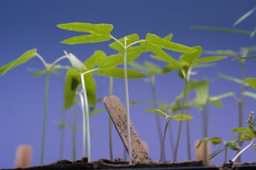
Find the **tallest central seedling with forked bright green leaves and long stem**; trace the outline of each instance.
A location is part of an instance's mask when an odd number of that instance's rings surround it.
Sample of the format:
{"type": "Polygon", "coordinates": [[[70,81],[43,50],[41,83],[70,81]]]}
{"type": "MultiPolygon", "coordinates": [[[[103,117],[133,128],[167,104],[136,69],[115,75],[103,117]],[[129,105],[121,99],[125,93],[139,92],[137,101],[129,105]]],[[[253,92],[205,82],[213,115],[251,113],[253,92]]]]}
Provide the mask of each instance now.
{"type": "MultiPolygon", "coordinates": [[[[92,24],[92,23],[64,23],[58,24],[58,27],[64,30],[71,30],[75,32],[82,32],[85,35],[75,36],[73,38],[68,38],[62,42],[65,44],[80,44],[80,43],[92,43],[92,42],[103,42],[108,40],[114,40],[110,44],[114,50],[117,50],[117,55],[112,55],[110,57],[105,57],[102,59],[97,59],[97,64],[100,68],[113,67],[123,64],[124,65],[124,86],[125,86],[125,96],[126,96],[126,110],[127,110],[127,120],[129,120],[129,89],[128,89],[128,69],[127,63],[135,60],[139,57],[142,52],[153,52],[154,55],[160,56],[162,60],[167,60],[169,62],[174,61],[174,59],[168,55],[162,48],[166,50],[173,50],[176,52],[195,52],[196,50],[187,47],[185,45],[180,45],[175,42],[170,42],[164,38],[160,38],[157,35],[148,33],[146,39],[142,40],[139,35],[132,34],[127,35],[124,38],[117,39],[111,35],[113,26],[110,24],[92,24]]],[[[109,69],[109,71],[110,71],[109,69]]],[[[117,68],[116,68],[117,69],[117,68]]],[[[105,70],[106,71],[106,70],[105,70]]],[[[102,72],[101,72],[102,73],[102,72]]],[[[106,72],[105,72],[106,73],[106,72]]],[[[111,72],[113,74],[113,72],[111,72]]],[[[120,76],[120,72],[118,72],[120,76]]],[[[110,72],[107,72],[108,76],[110,72]]],[[[132,149],[131,149],[131,137],[130,137],[130,127],[129,121],[127,121],[127,138],[129,143],[128,153],[129,153],[129,163],[132,163],[132,149]]]]}

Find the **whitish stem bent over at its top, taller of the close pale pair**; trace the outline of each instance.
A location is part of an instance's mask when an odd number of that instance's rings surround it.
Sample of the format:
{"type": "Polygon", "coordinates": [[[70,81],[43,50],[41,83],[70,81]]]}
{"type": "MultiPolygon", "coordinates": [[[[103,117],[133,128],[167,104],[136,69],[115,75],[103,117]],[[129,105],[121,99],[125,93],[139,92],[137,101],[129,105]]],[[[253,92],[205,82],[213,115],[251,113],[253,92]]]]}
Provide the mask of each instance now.
{"type": "Polygon", "coordinates": [[[85,87],[85,77],[84,74],[89,73],[89,71],[84,72],[81,75],[82,81],[82,94],[84,95],[84,106],[85,106],[85,119],[86,119],[86,134],[87,134],[87,157],[88,162],[91,162],[91,155],[90,155],[90,120],[89,120],[89,106],[88,106],[88,99],[87,99],[87,92],[85,87]]]}

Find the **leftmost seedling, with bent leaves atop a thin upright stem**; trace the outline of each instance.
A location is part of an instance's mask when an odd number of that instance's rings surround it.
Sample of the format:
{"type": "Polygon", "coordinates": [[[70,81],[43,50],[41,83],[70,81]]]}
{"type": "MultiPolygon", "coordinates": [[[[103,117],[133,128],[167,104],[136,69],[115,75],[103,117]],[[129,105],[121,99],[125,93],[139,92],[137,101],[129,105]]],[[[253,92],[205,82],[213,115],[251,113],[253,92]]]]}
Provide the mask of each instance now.
{"type": "Polygon", "coordinates": [[[38,54],[36,49],[28,50],[25,52],[21,57],[18,57],[18,59],[9,62],[8,64],[4,65],[0,68],[0,75],[6,74],[6,72],[9,72],[9,70],[14,69],[20,64],[24,64],[28,62],[28,60],[31,60],[33,57],[38,57],[39,60],[43,63],[43,66],[45,67],[44,71],[38,72],[36,74],[33,74],[34,77],[41,76],[42,74],[46,74],[46,90],[45,90],[45,99],[44,99],[44,106],[43,106],[43,132],[42,132],[42,145],[41,145],[41,165],[43,165],[43,157],[44,157],[44,145],[45,145],[45,135],[46,135],[46,114],[47,114],[47,108],[48,108],[48,87],[49,87],[49,77],[50,73],[55,73],[58,69],[66,69],[66,67],[62,67],[60,65],[57,65],[60,60],[63,60],[65,57],[60,57],[57,60],[55,60],[52,64],[48,64],[41,55],[38,54]]]}

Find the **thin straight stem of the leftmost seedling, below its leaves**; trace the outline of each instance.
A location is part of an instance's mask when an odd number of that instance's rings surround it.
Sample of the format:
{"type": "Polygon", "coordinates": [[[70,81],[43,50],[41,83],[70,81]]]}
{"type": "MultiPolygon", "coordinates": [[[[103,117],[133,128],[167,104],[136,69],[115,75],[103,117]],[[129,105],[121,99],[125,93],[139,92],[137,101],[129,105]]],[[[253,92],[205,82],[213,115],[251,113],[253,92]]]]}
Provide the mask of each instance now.
{"type": "Polygon", "coordinates": [[[43,106],[43,132],[42,132],[42,146],[41,146],[41,165],[43,165],[44,158],[44,147],[45,147],[45,138],[46,138],[46,115],[48,107],[48,89],[49,89],[49,77],[50,72],[46,72],[46,91],[45,91],[45,100],[43,106]]]}

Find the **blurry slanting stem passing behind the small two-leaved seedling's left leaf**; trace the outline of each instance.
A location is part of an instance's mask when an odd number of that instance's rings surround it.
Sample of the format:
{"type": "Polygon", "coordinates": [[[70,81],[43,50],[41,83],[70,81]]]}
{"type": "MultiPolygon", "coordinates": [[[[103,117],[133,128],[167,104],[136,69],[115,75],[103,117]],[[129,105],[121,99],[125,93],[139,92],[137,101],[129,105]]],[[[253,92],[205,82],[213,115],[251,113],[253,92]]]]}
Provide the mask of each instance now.
{"type": "MultiPolygon", "coordinates": [[[[150,75],[150,84],[151,84],[151,92],[152,92],[152,96],[153,96],[153,103],[154,103],[154,108],[157,108],[158,105],[157,105],[157,100],[156,100],[156,81],[155,81],[155,77],[154,75],[150,75]]],[[[162,132],[161,132],[161,123],[160,123],[160,115],[159,114],[156,114],[156,127],[157,127],[157,132],[159,134],[159,142],[160,142],[160,145],[162,146],[162,138],[163,138],[163,135],[162,135],[162,132]]],[[[162,154],[161,154],[162,155],[162,154]]],[[[163,152],[163,159],[165,159],[165,154],[163,152]]]]}

